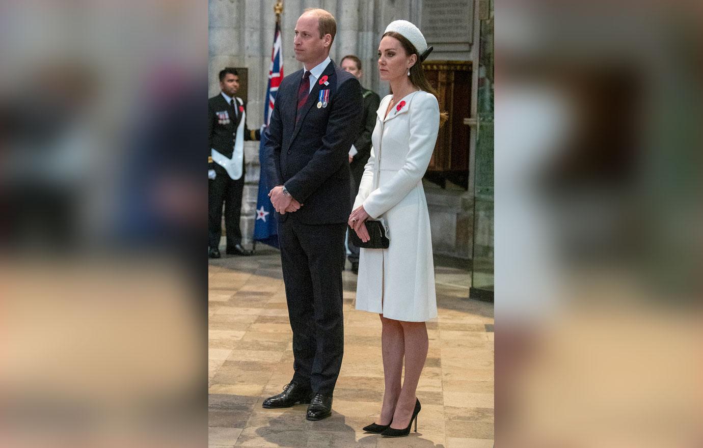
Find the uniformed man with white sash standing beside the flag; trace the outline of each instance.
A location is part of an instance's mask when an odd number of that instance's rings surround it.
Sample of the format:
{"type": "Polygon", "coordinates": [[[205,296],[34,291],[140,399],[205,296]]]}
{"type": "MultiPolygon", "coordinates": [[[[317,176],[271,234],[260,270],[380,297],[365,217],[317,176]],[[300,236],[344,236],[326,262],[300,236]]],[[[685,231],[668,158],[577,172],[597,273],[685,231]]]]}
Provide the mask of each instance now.
{"type": "Polygon", "coordinates": [[[251,255],[242,246],[239,218],[244,190],[244,140],[259,140],[260,131],[247,129],[246,105],[236,97],[239,75],[233,68],[219,72],[221,93],[207,101],[209,258],[220,258],[222,204],[227,230],[227,253],[251,255]]]}

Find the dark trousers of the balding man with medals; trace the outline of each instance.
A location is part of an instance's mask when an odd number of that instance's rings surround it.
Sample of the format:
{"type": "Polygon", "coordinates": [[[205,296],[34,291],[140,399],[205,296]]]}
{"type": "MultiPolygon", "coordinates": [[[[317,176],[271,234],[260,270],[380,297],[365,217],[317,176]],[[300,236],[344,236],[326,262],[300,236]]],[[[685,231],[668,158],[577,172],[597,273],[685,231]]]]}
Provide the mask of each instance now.
{"type": "MultiPolygon", "coordinates": [[[[294,212],[295,213],[295,212],[294,212]]],[[[293,331],[292,381],[332,395],[342,367],[342,266],[346,224],[278,220],[288,317],[293,331]]]]}

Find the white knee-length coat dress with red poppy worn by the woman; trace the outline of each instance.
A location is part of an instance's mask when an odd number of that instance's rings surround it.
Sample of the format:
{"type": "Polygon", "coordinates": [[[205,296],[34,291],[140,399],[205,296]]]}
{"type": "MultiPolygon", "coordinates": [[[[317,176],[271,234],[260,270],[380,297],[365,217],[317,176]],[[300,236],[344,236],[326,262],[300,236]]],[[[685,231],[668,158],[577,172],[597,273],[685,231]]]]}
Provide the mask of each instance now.
{"type": "Polygon", "coordinates": [[[384,118],[392,95],[381,101],[354,209],[382,218],[388,249],[361,249],[356,309],[406,322],[437,317],[430,216],[422,178],[439,131],[437,98],[416,91],[384,118]]]}

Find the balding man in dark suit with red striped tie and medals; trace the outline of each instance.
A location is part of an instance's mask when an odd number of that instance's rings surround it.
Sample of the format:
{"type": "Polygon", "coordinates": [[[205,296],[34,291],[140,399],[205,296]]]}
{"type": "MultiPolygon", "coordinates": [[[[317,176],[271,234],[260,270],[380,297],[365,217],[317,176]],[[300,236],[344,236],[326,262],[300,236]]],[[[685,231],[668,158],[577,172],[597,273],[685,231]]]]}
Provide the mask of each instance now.
{"type": "Polygon", "coordinates": [[[269,196],[278,214],[295,362],[283,393],[263,407],[310,403],[308,420],[330,416],[342,365],[342,270],[349,204],[349,147],[359,127],[361,85],[329,58],[337,25],[321,9],[295,25],[295,58],[303,70],[278,88],[266,137],[269,196]],[[274,186],[275,185],[275,186],[274,186]]]}

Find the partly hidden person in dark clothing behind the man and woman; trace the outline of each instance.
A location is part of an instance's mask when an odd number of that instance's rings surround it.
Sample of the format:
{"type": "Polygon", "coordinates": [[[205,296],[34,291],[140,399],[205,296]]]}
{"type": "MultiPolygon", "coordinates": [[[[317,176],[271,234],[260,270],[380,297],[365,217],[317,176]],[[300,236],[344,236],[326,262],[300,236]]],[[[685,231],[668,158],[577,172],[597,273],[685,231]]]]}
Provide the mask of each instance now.
{"type": "MultiPolygon", "coordinates": [[[[342,58],[340,67],[351,73],[356,79],[363,77],[361,70],[361,60],[356,55],[346,55],[342,58]]],[[[368,158],[371,156],[371,134],[376,126],[376,111],[381,103],[381,99],[374,91],[368,88],[361,88],[363,96],[363,113],[361,114],[361,124],[356,133],[356,140],[352,149],[349,150],[349,169],[352,170],[352,204],[356,199],[356,193],[359,192],[361,185],[361,176],[363,176],[363,167],[366,166],[368,158]]],[[[347,239],[349,247],[349,263],[352,263],[352,272],[359,273],[359,248],[354,246],[351,239],[347,239]]]]}

